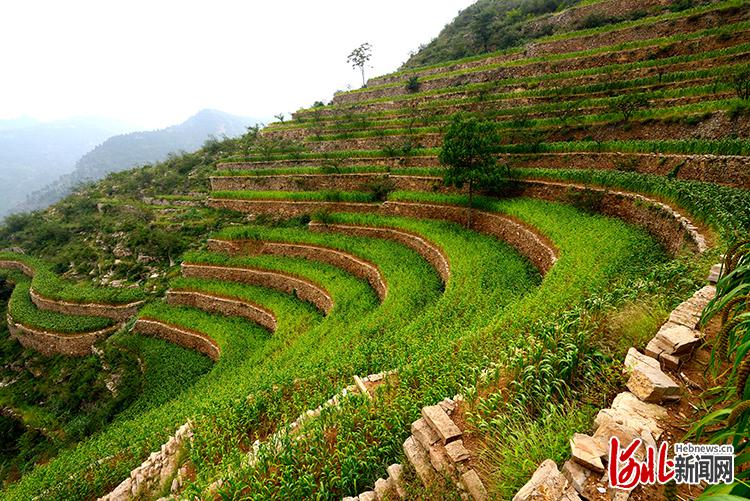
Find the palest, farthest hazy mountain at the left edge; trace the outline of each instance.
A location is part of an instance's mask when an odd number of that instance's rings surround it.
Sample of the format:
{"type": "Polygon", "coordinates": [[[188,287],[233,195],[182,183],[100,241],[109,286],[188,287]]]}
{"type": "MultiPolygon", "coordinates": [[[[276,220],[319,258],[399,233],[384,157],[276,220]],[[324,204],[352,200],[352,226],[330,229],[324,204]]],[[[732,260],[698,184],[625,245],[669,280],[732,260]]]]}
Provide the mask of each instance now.
{"type": "Polygon", "coordinates": [[[71,172],[91,148],[127,130],[125,124],[99,118],[0,120],[0,216],[50,179],[71,172]]]}

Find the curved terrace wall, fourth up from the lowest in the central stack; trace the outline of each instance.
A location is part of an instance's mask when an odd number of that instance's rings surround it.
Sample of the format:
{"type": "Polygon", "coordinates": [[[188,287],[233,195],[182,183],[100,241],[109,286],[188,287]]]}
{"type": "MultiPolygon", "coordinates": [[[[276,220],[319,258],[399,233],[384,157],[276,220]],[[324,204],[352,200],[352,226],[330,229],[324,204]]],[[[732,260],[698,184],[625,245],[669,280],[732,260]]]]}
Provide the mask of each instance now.
{"type": "Polygon", "coordinates": [[[294,244],[287,242],[268,242],[257,240],[217,240],[208,241],[208,249],[233,255],[270,254],[276,256],[301,257],[310,261],[319,261],[340,268],[355,277],[366,280],[383,302],[388,295],[388,285],[373,263],[360,259],[352,254],[330,247],[311,244],[294,244]]]}

